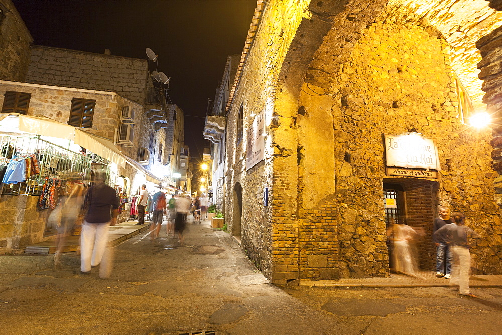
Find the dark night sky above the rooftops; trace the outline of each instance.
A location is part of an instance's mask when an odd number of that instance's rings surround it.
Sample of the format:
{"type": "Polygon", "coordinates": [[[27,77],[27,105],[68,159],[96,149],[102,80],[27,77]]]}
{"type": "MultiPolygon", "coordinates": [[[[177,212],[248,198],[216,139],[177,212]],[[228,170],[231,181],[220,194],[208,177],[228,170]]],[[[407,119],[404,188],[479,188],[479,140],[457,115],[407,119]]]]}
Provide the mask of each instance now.
{"type": "Polygon", "coordinates": [[[34,44],[147,59],[171,77],[185,113],[185,144],[200,159],[208,98],[226,57],[242,53],[256,0],[13,0],[34,44]],[[155,63],[154,63],[155,64],[155,63]],[[155,64],[156,65],[156,64],[155,64]]]}

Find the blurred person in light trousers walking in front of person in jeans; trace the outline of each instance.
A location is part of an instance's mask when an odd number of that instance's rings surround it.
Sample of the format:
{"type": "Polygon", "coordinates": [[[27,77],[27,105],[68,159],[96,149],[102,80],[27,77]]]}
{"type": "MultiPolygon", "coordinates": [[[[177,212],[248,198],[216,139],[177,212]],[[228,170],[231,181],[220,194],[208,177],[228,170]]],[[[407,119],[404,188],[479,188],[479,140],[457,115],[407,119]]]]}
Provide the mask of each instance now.
{"type": "Polygon", "coordinates": [[[444,225],[434,233],[434,239],[450,246],[453,252],[453,271],[451,284],[458,285],[458,293],[476,297],[470,293],[470,245],[467,236],[479,237],[479,235],[465,226],[465,215],[455,212],[451,215],[454,223],[444,225]]]}

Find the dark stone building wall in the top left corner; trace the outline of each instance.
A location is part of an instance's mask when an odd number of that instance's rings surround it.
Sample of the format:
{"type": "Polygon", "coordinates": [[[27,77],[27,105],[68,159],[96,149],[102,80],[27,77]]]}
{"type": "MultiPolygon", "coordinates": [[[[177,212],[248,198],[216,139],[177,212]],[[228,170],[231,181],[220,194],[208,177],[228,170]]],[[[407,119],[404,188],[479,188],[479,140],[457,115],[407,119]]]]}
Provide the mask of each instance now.
{"type": "Polygon", "coordinates": [[[11,0],[0,1],[5,17],[0,23],[0,80],[24,81],[33,38],[11,0]]]}

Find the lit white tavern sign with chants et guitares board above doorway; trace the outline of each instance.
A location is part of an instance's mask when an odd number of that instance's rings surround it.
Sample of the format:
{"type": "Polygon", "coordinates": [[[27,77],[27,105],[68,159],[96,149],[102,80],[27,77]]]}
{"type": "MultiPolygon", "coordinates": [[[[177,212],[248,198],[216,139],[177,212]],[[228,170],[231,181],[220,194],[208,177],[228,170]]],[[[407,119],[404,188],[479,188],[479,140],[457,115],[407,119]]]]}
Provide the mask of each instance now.
{"type": "Polygon", "coordinates": [[[417,133],[384,136],[387,175],[438,178],[441,165],[435,140],[417,133]]]}

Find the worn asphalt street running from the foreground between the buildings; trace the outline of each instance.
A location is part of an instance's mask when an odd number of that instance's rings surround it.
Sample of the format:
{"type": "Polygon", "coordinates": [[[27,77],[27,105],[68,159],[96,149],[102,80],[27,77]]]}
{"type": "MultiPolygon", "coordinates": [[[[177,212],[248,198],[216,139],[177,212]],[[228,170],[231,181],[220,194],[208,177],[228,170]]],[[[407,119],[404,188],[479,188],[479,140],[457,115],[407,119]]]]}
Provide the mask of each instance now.
{"type": "Polygon", "coordinates": [[[0,257],[2,333],[495,333],[502,290],[478,300],[452,288],[278,288],[209,221],[185,245],[142,232],[114,248],[110,279],[80,275],[77,253],[0,257]],[[461,321],[460,321],[461,320],[461,321]]]}

